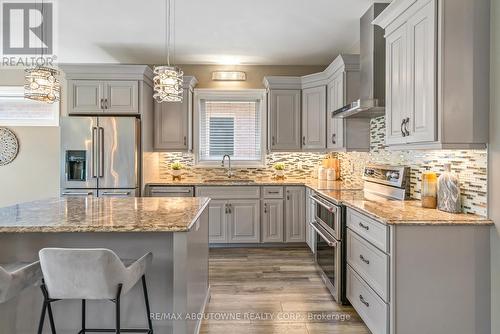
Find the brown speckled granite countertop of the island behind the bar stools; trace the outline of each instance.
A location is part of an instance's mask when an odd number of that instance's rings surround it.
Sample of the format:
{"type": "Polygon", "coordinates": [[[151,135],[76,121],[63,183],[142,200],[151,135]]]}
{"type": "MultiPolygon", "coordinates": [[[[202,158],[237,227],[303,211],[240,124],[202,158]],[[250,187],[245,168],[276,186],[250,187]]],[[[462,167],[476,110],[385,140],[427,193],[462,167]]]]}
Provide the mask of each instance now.
{"type": "Polygon", "coordinates": [[[0,233],[186,232],[206,197],[61,197],[0,208],[0,233]]]}

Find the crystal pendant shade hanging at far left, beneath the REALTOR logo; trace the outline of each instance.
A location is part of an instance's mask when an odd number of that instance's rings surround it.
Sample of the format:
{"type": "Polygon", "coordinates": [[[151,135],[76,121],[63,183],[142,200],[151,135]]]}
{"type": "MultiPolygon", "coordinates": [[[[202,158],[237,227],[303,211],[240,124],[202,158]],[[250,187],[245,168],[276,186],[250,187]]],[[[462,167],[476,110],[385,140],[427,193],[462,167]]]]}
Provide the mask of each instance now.
{"type": "Polygon", "coordinates": [[[24,97],[30,100],[54,103],[59,101],[61,86],[56,75],[59,72],[50,67],[37,66],[25,70],[24,97]]]}

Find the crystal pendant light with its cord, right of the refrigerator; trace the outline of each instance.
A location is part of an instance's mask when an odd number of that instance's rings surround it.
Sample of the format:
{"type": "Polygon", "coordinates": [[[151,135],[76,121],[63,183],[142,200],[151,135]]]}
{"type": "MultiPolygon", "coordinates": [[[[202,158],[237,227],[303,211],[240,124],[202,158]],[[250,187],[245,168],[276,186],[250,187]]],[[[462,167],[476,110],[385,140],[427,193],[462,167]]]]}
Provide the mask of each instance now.
{"type": "Polygon", "coordinates": [[[170,65],[170,39],[172,32],[171,0],[166,0],[166,54],[167,65],[155,66],[154,68],[154,94],[153,97],[161,102],[182,102],[183,90],[182,76],[184,73],[177,66],[170,65]]]}

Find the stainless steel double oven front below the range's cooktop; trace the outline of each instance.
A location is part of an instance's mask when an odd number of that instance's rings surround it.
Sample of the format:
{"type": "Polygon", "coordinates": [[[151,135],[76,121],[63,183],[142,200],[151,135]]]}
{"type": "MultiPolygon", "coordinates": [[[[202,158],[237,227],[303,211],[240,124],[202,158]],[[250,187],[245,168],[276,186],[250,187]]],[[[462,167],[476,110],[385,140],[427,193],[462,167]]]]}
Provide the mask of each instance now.
{"type": "Polygon", "coordinates": [[[311,227],[316,233],[316,264],[326,287],[340,304],[347,304],[345,296],[345,208],[314,193],[315,221],[311,227]]]}

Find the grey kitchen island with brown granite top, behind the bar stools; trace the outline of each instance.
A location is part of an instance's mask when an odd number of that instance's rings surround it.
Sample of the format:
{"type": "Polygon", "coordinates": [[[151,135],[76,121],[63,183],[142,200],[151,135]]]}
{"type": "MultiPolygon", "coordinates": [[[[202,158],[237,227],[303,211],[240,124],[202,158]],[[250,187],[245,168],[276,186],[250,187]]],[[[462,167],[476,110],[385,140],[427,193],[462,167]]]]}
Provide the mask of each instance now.
{"type": "MultiPolygon", "coordinates": [[[[202,197],[69,197],[1,208],[0,263],[36,261],[44,247],[109,248],[122,259],[152,252],[146,278],[155,333],[196,333],[201,320],[193,315],[210,296],[208,203],[202,197]],[[180,318],[173,320],[174,314],[180,318]]],[[[35,333],[42,300],[40,289],[31,287],[0,304],[0,333],[35,333]]],[[[57,333],[79,330],[80,307],[79,300],[53,305],[57,333]]],[[[144,328],[145,313],[137,285],[122,298],[122,326],[144,328]]],[[[112,303],[88,303],[89,327],[113,328],[113,319],[112,303]]]]}

